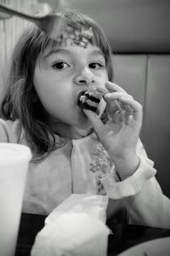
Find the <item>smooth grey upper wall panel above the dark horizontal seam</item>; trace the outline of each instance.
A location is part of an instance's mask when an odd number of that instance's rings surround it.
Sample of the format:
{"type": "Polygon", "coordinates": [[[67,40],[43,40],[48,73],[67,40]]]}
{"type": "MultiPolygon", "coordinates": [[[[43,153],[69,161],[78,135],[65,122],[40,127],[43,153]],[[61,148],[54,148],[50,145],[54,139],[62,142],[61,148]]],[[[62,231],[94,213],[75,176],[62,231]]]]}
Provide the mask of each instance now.
{"type": "Polygon", "coordinates": [[[64,0],[105,30],[114,53],[170,53],[169,0],[64,0]]]}

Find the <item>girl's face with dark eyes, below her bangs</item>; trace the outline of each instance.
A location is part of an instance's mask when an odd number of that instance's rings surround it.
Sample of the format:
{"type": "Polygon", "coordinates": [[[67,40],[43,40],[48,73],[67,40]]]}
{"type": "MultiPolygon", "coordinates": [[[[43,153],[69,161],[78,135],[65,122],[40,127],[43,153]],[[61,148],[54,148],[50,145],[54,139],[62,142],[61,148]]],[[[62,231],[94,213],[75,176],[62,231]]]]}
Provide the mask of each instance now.
{"type": "MultiPolygon", "coordinates": [[[[67,43],[47,50],[36,63],[34,86],[50,119],[59,119],[73,128],[91,128],[86,115],[77,106],[81,90],[105,88],[108,80],[105,57],[94,45],[88,48],[67,43]]],[[[100,102],[100,112],[105,101],[100,102]]]]}

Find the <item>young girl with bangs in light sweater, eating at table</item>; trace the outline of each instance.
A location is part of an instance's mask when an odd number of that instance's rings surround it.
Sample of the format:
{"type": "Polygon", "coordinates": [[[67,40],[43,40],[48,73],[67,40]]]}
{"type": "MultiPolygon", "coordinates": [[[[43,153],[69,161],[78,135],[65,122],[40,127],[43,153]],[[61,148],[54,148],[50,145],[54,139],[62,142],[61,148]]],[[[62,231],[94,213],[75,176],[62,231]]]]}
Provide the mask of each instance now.
{"type": "Polygon", "coordinates": [[[33,155],[23,212],[48,214],[73,193],[109,195],[108,218],[125,209],[128,223],[170,227],[170,203],[139,141],[142,106],[112,83],[100,27],[60,15],[77,29],[65,26],[57,41],[37,26],[21,35],[1,107],[0,141],[33,155]],[[83,90],[105,91],[98,114],[78,106],[83,90]]]}

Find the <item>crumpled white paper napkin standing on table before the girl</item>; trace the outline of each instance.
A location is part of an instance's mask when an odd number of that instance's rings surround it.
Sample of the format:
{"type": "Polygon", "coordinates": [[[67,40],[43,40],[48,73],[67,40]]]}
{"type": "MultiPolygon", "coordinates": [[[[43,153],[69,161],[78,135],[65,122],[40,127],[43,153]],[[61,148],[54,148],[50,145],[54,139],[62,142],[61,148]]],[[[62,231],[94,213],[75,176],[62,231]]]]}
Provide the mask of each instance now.
{"type": "Polygon", "coordinates": [[[71,195],[46,218],[31,256],[106,256],[105,195],[71,195]]]}

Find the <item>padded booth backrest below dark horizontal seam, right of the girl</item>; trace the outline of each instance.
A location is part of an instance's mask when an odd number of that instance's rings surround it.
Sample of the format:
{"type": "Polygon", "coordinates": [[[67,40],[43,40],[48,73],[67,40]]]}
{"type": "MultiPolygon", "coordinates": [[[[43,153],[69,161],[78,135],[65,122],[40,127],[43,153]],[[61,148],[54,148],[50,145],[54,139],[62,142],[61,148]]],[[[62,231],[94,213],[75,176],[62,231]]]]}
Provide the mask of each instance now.
{"type": "Polygon", "coordinates": [[[170,54],[113,54],[114,82],[143,105],[140,138],[170,198],[170,54]]]}

